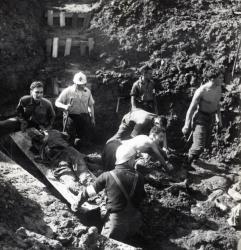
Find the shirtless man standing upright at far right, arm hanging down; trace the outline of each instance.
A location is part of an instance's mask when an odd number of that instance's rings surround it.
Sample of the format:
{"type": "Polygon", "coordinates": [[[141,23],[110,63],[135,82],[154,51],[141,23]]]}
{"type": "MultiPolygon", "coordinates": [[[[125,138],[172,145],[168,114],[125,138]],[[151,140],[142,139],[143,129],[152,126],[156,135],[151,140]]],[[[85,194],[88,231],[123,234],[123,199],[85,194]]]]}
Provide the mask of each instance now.
{"type": "Polygon", "coordinates": [[[194,93],[182,128],[184,136],[187,136],[190,128],[193,133],[193,143],[188,152],[188,166],[209,146],[215,119],[222,127],[220,99],[223,73],[218,68],[212,68],[206,72],[206,77],[208,82],[194,93]]]}

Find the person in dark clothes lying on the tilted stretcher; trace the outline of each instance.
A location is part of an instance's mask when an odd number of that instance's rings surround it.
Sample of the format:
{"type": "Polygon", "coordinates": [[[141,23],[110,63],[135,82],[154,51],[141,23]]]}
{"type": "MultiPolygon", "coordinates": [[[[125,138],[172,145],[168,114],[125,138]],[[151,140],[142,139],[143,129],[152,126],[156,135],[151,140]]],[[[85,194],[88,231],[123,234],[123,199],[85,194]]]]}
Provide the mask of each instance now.
{"type": "Polygon", "coordinates": [[[79,184],[91,179],[84,161],[85,155],[70,146],[68,136],[58,130],[40,131],[31,129],[29,136],[38,145],[40,156],[36,162],[47,164],[54,176],[62,181],[73,193],[79,191],[79,184]]]}

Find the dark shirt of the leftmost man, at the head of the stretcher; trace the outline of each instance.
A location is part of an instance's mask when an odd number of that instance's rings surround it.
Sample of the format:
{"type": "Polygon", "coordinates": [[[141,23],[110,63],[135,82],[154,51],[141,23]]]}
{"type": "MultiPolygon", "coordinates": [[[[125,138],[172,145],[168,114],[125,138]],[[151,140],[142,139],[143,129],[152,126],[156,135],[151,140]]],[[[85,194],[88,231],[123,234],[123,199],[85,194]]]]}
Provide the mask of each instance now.
{"type": "Polygon", "coordinates": [[[42,98],[40,102],[35,102],[31,95],[26,95],[19,100],[17,115],[35,127],[48,127],[55,118],[55,111],[49,100],[42,98]]]}

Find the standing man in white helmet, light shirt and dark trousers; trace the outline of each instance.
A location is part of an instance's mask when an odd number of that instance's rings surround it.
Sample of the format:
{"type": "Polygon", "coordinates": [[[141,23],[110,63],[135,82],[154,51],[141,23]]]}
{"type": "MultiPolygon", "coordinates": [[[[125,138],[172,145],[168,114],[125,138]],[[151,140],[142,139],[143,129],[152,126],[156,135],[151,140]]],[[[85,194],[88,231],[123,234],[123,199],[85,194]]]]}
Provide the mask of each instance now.
{"type": "Polygon", "coordinates": [[[94,99],[86,87],[87,78],[84,73],[75,74],[73,82],[73,85],[62,91],[55,105],[64,110],[63,123],[66,124],[71,141],[74,142],[76,135],[90,140],[95,125],[94,99]]]}

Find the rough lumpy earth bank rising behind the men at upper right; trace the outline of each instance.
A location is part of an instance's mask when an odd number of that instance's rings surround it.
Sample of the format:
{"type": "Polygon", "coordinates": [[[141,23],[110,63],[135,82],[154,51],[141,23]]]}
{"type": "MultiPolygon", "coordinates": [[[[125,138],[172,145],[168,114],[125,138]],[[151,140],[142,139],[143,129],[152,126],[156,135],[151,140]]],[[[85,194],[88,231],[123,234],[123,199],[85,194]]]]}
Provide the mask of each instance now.
{"type": "MultiPolygon", "coordinates": [[[[158,112],[169,117],[170,145],[183,145],[185,110],[194,91],[206,81],[211,65],[224,70],[222,116],[224,128],[215,133],[212,155],[228,161],[240,156],[240,65],[231,71],[238,46],[240,9],[236,1],[104,1],[91,29],[108,37],[99,59],[102,82],[129,91],[144,63],[153,68],[158,85],[158,112]],[[114,70],[113,70],[114,67],[114,70]],[[111,72],[110,72],[111,68],[111,72]],[[123,77],[126,72],[132,72],[123,77]],[[118,77],[120,75],[120,77],[118,77]],[[115,77],[117,76],[117,77],[115,77]]],[[[120,91],[121,95],[121,91],[120,91]]]]}

